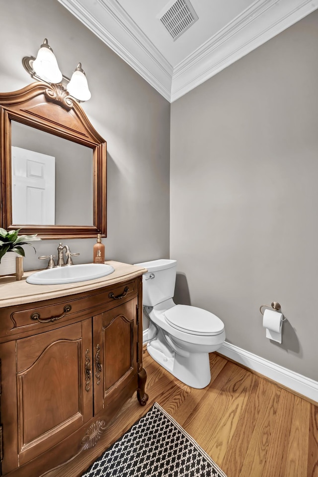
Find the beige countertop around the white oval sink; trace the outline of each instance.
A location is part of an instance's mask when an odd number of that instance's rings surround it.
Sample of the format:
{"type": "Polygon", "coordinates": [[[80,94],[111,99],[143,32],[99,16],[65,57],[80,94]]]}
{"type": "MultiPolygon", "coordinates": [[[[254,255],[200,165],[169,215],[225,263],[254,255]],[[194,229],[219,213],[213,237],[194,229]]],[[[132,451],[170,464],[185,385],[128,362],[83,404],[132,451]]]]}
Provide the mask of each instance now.
{"type": "Polygon", "coordinates": [[[63,285],[32,285],[27,283],[26,277],[39,270],[24,272],[22,280],[19,281],[14,276],[0,277],[0,308],[75,295],[76,293],[115,285],[122,281],[134,279],[147,271],[146,268],[114,260],[108,260],[105,263],[115,269],[110,275],[95,280],[63,285]]]}

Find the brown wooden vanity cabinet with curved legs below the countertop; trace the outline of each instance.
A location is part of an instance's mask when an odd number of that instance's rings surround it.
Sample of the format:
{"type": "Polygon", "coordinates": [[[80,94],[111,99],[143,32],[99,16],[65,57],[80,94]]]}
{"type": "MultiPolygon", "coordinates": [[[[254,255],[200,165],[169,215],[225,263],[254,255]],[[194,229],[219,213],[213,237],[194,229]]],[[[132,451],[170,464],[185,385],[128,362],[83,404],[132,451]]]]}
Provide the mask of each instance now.
{"type": "Polygon", "coordinates": [[[88,467],[126,399],[147,402],[141,286],[0,309],[1,476],[41,476],[83,452],[88,467]]]}

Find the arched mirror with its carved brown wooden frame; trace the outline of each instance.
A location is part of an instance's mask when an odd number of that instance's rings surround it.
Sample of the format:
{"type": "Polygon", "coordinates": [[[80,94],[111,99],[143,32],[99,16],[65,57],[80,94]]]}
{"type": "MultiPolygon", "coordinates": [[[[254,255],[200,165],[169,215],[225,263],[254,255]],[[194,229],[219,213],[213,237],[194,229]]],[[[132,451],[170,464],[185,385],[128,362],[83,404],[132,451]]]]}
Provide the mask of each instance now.
{"type": "Polygon", "coordinates": [[[63,86],[0,93],[0,131],[0,227],[106,237],[106,142],[63,86]]]}

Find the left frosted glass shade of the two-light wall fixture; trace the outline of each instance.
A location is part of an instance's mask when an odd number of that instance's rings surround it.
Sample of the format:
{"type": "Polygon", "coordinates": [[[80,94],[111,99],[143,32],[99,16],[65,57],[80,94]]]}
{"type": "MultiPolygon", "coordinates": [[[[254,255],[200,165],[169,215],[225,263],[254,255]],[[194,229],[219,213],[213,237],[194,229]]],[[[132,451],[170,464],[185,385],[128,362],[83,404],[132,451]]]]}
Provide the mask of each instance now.
{"type": "Polygon", "coordinates": [[[49,83],[59,83],[62,81],[63,75],[60,72],[58,62],[54,56],[52,49],[47,44],[45,38],[43,45],[38,51],[37,57],[32,65],[33,70],[44,81],[49,83]]]}

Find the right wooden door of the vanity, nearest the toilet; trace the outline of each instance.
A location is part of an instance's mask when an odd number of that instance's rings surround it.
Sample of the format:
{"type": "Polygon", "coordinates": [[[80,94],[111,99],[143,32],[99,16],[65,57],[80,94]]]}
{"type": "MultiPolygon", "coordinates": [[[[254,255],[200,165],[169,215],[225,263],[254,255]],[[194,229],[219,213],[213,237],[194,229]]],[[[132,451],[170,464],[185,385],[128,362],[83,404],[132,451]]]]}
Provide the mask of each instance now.
{"type": "Polygon", "coordinates": [[[137,376],[137,304],[135,297],[93,317],[95,414],[118,402],[122,390],[137,376]]]}

